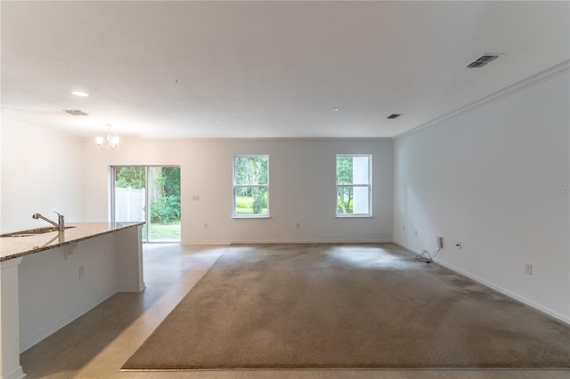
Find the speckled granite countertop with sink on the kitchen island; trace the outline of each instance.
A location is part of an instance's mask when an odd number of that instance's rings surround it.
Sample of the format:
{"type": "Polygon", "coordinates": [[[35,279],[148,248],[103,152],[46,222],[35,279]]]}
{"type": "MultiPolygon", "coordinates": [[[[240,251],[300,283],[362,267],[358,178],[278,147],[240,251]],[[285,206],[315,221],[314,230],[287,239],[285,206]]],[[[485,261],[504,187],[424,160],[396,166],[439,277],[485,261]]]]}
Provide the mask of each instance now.
{"type": "Polygon", "coordinates": [[[143,224],[144,222],[77,222],[66,224],[66,228],[71,228],[66,229],[61,235],[56,230],[26,237],[2,237],[0,262],[143,224]]]}

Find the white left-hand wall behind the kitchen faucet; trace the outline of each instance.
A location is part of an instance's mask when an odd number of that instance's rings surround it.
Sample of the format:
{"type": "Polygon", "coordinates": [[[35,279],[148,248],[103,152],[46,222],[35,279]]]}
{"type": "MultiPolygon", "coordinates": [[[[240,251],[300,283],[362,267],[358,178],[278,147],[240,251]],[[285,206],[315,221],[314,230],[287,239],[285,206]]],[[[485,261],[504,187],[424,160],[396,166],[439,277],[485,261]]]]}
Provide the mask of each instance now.
{"type": "Polygon", "coordinates": [[[49,226],[35,213],[82,221],[82,148],[77,139],[2,118],[0,231],[49,226]]]}

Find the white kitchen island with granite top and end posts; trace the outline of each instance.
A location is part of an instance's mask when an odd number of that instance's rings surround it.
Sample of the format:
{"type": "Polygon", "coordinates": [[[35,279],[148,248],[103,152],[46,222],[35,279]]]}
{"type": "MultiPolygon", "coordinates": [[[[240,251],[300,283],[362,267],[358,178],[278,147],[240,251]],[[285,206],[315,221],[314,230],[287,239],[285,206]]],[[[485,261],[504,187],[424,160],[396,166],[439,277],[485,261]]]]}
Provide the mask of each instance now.
{"type": "Polygon", "coordinates": [[[140,292],[144,222],[69,223],[0,237],[0,378],[22,378],[20,352],[118,292],[140,292]]]}

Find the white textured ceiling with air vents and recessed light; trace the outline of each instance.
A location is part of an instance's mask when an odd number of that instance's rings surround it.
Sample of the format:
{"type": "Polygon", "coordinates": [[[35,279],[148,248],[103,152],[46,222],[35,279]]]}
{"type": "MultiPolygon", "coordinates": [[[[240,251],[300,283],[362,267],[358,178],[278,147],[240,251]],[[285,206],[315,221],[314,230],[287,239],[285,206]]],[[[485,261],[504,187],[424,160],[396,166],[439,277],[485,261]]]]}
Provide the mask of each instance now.
{"type": "Polygon", "coordinates": [[[393,137],[570,57],[568,2],[1,6],[2,117],[81,137],[393,137]]]}

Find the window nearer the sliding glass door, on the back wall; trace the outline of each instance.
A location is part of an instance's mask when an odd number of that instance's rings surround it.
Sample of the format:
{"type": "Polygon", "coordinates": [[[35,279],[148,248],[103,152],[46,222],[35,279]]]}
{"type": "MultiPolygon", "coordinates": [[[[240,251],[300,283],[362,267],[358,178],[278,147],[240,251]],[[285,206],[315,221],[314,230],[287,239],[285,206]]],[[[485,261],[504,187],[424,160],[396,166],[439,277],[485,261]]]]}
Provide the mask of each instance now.
{"type": "Polygon", "coordinates": [[[269,156],[233,157],[233,217],[269,217],[269,156]]]}

